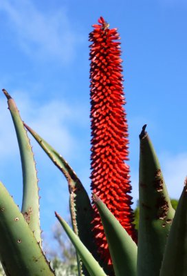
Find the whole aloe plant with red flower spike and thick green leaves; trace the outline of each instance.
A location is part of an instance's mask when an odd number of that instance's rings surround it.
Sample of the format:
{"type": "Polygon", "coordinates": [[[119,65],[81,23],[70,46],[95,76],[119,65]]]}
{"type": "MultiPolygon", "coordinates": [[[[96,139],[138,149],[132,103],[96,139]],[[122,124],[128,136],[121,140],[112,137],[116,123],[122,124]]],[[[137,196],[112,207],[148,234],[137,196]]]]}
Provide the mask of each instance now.
{"type": "Polygon", "coordinates": [[[119,34],[110,30],[102,17],[98,23],[90,34],[92,202],[71,166],[23,123],[14,100],[3,90],[23,170],[21,211],[0,183],[0,260],[6,275],[54,275],[41,248],[38,180],[25,128],[67,179],[73,229],[55,215],[76,248],[79,276],[187,275],[187,181],[175,213],[146,125],[139,136],[140,221],[136,239],[126,164],[129,141],[122,60],[120,43],[115,41],[119,34]]]}

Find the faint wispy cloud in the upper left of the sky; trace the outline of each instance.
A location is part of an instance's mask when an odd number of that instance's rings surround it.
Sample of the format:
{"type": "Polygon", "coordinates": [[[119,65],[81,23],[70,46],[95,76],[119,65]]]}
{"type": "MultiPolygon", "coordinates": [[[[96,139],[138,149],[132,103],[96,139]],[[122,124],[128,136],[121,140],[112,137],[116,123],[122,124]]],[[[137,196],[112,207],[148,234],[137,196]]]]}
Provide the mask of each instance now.
{"type": "Polygon", "coordinates": [[[0,2],[8,28],[28,55],[40,59],[74,59],[81,34],[73,28],[65,8],[43,12],[30,0],[0,2]]]}

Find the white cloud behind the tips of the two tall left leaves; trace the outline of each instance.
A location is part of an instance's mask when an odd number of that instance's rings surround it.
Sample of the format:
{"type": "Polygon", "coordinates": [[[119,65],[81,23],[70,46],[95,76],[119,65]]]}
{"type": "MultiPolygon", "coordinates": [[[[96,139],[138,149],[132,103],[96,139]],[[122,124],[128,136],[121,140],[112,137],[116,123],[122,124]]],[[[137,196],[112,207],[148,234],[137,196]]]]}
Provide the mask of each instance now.
{"type": "MultiPolygon", "coordinates": [[[[78,142],[78,137],[74,139],[74,133],[69,128],[70,126],[73,128],[83,126],[83,121],[79,115],[83,112],[83,106],[72,104],[70,107],[65,101],[57,100],[41,105],[23,92],[14,92],[12,97],[19,107],[23,121],[36,132],[39,132],[39,135],[54,148],[63,151],[63,155],[69,158],[78,142]]],[[[0,99],[0,152],[1,157],[10,158],[17,155],[19,150],[14,126],[5,101],[6,99],[3,97],[0,99]]],[[[33,140],[32,144],[34,144],[33,140]]]]}

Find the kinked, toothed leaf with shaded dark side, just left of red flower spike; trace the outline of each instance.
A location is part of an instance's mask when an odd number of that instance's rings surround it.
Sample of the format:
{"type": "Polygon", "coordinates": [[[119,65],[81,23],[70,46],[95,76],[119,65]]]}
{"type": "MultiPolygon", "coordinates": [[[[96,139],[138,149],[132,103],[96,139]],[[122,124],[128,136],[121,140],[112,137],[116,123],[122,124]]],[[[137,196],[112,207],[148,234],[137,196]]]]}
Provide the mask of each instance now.
{"type": "MultiPolygon", "coordinates": [[[[31,135],[36,139],[41,148],[46,152],[50,157],[52,162],[57,166],[63,175],[67,179],[69,187],[69,206],[72,216],[72,225],[74,232],[80,240],[85,244],[88,250],[99,259],[98,254],[96,253],[96,245],[94,244],[94,236],[91,231],[91,221],[93,220],[93,209],[87,191],[85,190],[83,184],[78,179],[76,173],[72,168],[67,164],[67,161],[59,155],[50,144],[41,138],[32,128],[24,123],[25,128],[31,133],[31,135]]],[[[88,275],[87,271],[81,267],[81,262],[78,259],[78,264],[80,264],[79,275],[88,275]]]]}

